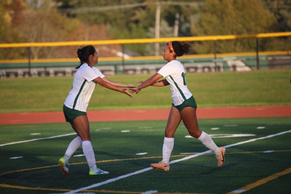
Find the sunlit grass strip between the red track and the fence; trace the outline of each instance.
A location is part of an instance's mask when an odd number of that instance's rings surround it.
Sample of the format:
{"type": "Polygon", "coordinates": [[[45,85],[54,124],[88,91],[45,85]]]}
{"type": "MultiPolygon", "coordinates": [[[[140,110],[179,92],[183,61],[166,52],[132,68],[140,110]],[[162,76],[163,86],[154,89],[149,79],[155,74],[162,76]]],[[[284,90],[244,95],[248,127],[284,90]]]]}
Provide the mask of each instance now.
{"type": "MultiPolygon", "coordinates": [[[[132,83],[151,75],[108,76],[132,83]]],[[[187,86],[198,107],[291,105],[291,70],[252,72],[187,73],[187,86]]],[[[0,79],[0,113],[62,111],[73,77],[0,79]]],[[[96,86],[87,110],[170,108],[169,86],[143,89],[130,98],[96,86]]]]}

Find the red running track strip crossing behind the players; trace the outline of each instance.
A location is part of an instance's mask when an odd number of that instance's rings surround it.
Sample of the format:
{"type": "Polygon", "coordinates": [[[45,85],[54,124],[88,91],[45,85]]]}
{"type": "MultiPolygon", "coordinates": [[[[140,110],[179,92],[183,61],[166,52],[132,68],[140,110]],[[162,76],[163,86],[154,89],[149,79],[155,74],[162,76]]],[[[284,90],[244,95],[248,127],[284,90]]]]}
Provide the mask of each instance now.
{"type": "MultiPolygon", "coordinates": [[[[87,111],[93,121],[167,120],[170,109],[87,111]]],[[[197,108],[197,118],[291,117],[291,106],[197,108]]],[[[63,112],[0,114],[0,125],[65,122],[63,112]]]]}

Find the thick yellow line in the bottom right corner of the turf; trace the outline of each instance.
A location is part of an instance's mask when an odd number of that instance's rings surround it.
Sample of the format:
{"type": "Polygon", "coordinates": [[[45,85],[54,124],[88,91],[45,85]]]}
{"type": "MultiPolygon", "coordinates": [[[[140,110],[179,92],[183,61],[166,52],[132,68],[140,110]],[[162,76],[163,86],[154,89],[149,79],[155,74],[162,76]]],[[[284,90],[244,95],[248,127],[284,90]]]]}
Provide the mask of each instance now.
{"type": "Polygon", "coordinates": [[[286,175],[286,174],[288,174],[288,173],[290,173],[290,172],[291,172],[291,168],[287,168],[286,170],[283,170],[282,172],[278,172],[278,173],[276,173],[276,174],[274,174],[274,175],[271,175],[271,176],[269,176],[269,177],[267,177],[267,178],[264,178],[264,179],[258,180],[258,181],[254,182],[254,183],[252,183],[252,184],[249,184],[249,185],[247,185],[247,186],[244,186],[244,187],[242,187],[242,188],[239,188],[239,189],[235,190],[235,191],[237,191],[237,192],[232,191],[232,192],[229,192],[229,193],[227,193],[227,194],[242,193],[242,192],[244,192],[244,191],[249,191],[249,190],[252,189],[252,188],[255,188],[255,187],[257,187],[257,186],[260,186],[260,185],[262,185],[262,184],[265,184],[265,183],[267,183],[268,181],[271,181],[271,180],[276,179],[276,178],[278,178],[278,177],[280,177],[280,176],[286,175]]]}

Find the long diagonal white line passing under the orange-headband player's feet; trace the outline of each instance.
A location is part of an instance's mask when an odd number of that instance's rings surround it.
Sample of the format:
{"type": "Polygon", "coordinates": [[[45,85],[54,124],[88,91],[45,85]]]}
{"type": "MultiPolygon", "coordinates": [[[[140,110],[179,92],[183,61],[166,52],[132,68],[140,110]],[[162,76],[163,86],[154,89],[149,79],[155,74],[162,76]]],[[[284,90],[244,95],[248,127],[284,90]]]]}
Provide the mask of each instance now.
{"type": "MultiPolygon", "coordinates": [[[[256,140],[271,138],[271,137],[274,137],[274,136],[283,135],[283,134],[290,133],[290,132],[291,132],[291,130],[283,131],[283,132],[278,133],[278,134],[273,134],[273,135],[268,135],[268,136],[265,136],[265,137],[250,139],[250,140],[246,140],[246,141],[242,141],[242,142],[226,145],[226,146],[223,146],[223,147],[227,148],[227,147],[232,147],[232,146],[235,146],[235,145],[241,145],[241,144],[244,144],[244,143],[249,143],[249,142],[253,142],[253,141],[256,141],[256,140]]],[[[171,161],[170,164],[173,164],[173,163],[176,163],[176,162],[180,162],[180,161],[184,161],[184,160],[188,160],[190,158],[194,158],[194,157],[197,157],[197,156],[200,156],[200,155],[203,155],[203,154],[207,154],[207,153],[210,153],[210,152],[212,152],[212,151],[208,150],[208,151],[205,151],[205,152],[200,152],[198,154],[194,154],[194,155],[187,156],[187,157],[184,157],[184,158],[181,158],[181,159],[178,159],[178,160],[171,161]]],[[[117,181],[117,180],[120,180],[120,179],[124,179],[126,177],[130,177],[132,175],[137,175],[137,174],[140,174],[142,172],[146,172],[146,171],[149,171],[149,170],[152,170],[152,169],[153,169],[152,167],[144,168],[142,170],[138,170],[138,171],[126,174],[126,175],[122,175],[122,176],[113,178],[113,179],[108,179],[107,181],[103,181],[103,182],[96,183],[96,184],[93,184],[93,185],[90,185],[90,186],[86,186],[86,187],[82,187],[82,188],[79,188],[79,189],[76,189],[76,190],[73,190],[73,191],[69,191],[69,192],[67,192],[65,194],[77,193],[77,192],[82,191],[82,190],[98,187],[98,186],[101,186],[101,185],[104,185],[104,184],[107,184],[107,183],[111,183],[111,182],[114,182],[114,181],[117,181]]]]}

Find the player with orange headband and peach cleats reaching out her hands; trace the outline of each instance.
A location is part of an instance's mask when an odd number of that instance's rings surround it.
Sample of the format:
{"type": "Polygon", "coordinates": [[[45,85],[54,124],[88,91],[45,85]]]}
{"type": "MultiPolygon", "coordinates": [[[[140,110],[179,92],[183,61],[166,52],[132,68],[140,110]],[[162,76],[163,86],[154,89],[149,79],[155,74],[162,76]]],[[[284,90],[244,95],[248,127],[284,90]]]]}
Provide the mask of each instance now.
{"type": "Polygon", "coordinates": [[[191,44],[188,42],[183,44],[179,41],[167,43],[162,52],[162,56],[168,63],[146,81],[138,81],[142,83],[141,85],[130,89],[132,90],[131,93],[136,92],[137,94],[142,88],[148,86],[170,85],[171,88],[173,103],[165,129],[163,160],[150,165],[155,169],[165,171],[170,169],[169,160],[174,147],[174,134],[181,120],[192,137],[200,140],[203,145],[214,152],[218,161],[218,167],[221,167],[224,162],[226,149],[224,147],[217,147],[212,138],[198,127],[196,117],[197,105],[193,95],[187,88],[184,67],[176,60],[177,57],[182,56],[184,53],[189,54],[190,48],[191,44]],[[158,81],[162,77],[166,79],[158,81]]]}

